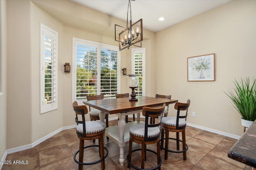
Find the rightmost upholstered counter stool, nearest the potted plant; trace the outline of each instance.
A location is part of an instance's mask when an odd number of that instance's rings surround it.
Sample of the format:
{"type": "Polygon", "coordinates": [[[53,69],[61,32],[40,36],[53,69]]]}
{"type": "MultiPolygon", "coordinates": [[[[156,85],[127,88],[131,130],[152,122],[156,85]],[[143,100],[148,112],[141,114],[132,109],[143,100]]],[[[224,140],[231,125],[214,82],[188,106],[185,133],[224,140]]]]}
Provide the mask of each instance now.
{"type": "Polygon", "coordinates": [[[177,110],[176,117],[163,117],[161,121],[161,149],[164,149],[164,159],[168,159],[168,152],[174,153],[183,153],[183,159],[186,160],[186,151],[188,150],[188,145],[186,144],[186,118],[188,115],[188,107],[190,106],[190,100],[186,103],[176,102],[174,109],[177,110]],[[181,112],[185,112],[185,114],[181,112]],[[176,139],[169,138],[169,132],[176,132],[176,139]],[[182,140],[180,140],[179,133],[182,132],[182,140]],[[165,134],[165,147],[164,143],[164,134],[165,134]],[[177,150],[169,150],[168,144],[169,139],[176,140],[177,150]],[[182,142],[182,150],[180,150],[180,142],[182,142]]]}

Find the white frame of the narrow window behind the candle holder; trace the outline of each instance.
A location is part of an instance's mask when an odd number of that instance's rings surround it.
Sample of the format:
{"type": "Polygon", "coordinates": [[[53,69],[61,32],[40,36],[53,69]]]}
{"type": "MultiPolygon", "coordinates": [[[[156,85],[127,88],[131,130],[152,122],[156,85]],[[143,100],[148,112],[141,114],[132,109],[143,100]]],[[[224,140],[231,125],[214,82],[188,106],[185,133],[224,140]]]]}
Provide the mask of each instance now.
{"type": "Polygon", "coordinates": [[[145,48],[132,48],[132,74],[135,74],[135,53],[142,53],[142,96],[146,96],[146,49],[145,48]]]}

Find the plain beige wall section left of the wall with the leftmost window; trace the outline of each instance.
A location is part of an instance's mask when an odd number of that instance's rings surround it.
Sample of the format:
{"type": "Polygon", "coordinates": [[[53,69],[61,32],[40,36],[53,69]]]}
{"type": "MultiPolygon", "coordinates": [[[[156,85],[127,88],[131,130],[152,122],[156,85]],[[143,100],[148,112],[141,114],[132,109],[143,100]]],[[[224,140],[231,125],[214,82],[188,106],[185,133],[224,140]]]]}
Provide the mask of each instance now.
{"type": "Polygon", "coordinates": [[[31,144],[30,1],[7,1],[7,149],[31,144]]]}

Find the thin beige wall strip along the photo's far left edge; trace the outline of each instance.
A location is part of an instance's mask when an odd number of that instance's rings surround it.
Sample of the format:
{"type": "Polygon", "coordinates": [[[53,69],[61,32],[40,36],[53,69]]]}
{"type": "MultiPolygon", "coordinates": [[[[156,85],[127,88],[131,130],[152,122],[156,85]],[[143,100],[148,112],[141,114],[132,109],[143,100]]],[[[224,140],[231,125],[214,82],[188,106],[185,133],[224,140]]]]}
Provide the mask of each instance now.
{"type": "MultiPolygon", "coordinates": [[[[0,1],[0,158],[6,151],[6,61],[7,61],[6,0],[0,1]]],[[[1,165],[0,165],[1,167],[1,165]]]]}

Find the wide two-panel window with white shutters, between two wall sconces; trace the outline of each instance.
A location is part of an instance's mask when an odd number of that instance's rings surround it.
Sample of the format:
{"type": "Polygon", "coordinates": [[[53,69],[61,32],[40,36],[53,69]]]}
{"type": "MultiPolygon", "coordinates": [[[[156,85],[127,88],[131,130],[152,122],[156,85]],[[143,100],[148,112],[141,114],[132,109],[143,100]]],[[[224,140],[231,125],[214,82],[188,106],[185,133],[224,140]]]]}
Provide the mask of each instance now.
{"type": "Polygon", "coordinates": [[[114,97],[119,92],[118,47],[73,38],[73,99],[86,95],[114,97]]]}

